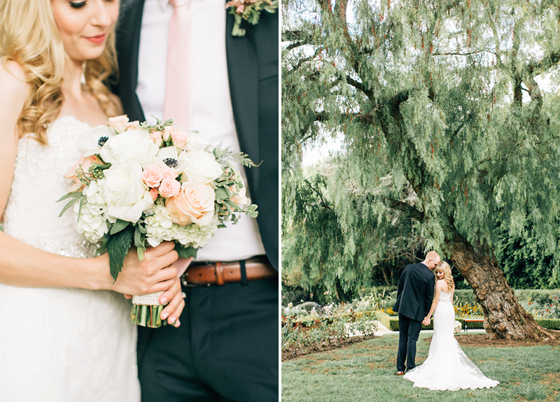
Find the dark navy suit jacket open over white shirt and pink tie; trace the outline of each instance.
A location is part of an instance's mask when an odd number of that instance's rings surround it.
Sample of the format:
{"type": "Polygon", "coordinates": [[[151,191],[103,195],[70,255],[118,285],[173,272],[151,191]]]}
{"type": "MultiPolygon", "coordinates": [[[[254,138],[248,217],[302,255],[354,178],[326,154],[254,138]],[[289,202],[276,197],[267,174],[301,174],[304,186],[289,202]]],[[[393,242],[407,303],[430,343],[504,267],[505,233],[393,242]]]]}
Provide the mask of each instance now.
{"type": "MultiPolygon", "coordinates": [[[[118,83],[130,120],[146,120],[136,94],[138,51],[144,0],[123,1],[117,27],[118,83]]],[[[228,13],[225,9],[224,13],[228,13]]],[[[233,15],[226,16],[225,46],[235,129],[241,151],[258,167],[245,168],[251,201],[258,205],[258,227],[267,257],[279,269],[279,82],[278,13],[262,12],[257,25],[232,36],[233,15]]],[[[211,77],[209,77],[211,79],[211,77]]],[[[197,78],[195,78],[197,79],[197,78]]],[[[204,133],[202,133],[204,135],[204,133]]]]}

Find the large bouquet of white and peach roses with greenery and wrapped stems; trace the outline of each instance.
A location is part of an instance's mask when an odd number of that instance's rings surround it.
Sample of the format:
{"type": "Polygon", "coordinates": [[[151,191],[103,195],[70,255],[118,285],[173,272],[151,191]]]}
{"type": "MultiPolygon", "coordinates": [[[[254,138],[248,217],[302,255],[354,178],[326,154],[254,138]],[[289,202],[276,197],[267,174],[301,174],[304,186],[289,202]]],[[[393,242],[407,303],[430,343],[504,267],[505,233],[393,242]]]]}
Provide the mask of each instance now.
{"type": "MultiPolygon", "coordinates": [[[[255,166],[253,161],[175,127],[171,119],[151,125],[112,117],[80,136],[78,145],[84,154],[64,176],[74,185],[59,199],[69,199],[60,215],[73,209],[76,231],[101,243],[97,255],[109,254],[114,280],[132,244],[140,260],[146,247],[162,241],[174,241],[180,258],[196,257],[225,222],[237,223],[241,213],[258,215],[233,166],[255,166]]],[[[134,296],[134,324],[166,324],[159,296],[134,296]]]]}

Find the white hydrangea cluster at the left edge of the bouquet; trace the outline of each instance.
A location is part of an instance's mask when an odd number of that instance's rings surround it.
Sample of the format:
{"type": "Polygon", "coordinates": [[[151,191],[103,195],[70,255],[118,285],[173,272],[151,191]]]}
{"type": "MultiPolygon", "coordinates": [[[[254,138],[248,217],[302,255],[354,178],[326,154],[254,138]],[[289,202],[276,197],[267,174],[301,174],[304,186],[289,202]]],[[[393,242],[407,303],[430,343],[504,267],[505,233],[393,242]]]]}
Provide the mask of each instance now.
{"type": "Polygon", "coordinates": [[[85,198],[82,201],[81,210],[79,202],[73,205],[76,216],[78,211],[80,212],[80,217],[76,220],[77,222],[74,222],[74,228],[78,233],[83,233],[85,238],[92,243],[97,243],[109,231],[105,217],[107,206],[103,198],[103,185],[103,180],[92,181],[83,189],[85,198]]]}

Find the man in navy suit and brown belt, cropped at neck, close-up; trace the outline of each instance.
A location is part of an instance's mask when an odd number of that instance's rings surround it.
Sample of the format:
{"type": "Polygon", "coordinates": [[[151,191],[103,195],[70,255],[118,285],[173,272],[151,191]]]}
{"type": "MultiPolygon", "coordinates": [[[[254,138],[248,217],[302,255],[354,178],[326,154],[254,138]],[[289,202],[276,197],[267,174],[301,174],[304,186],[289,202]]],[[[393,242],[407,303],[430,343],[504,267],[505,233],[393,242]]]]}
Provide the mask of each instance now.
{"type": "MultiPolygon", "coordinates": [[[[242,232],[219,238],[230,230],[219,229],[213,245],[199,250],[202,261],[191,264],[187,273],[210,273],[209,280],[190,282],[193,275],[182,278],[186,307],[179,328],[139,327],[142,401],[278,401],[279,15],[263,11],[258,24],[243,26],[246,34],[235,37],[231,34],[234,17],[225,9],[225,1],[191,0],[191,8],[193,24],[198,24],[192,34],[193,50],[206,52],[203,57],[196,51],[192,54],[197,63],[193,92],[211,96],[202,102],[193,96],[193,129],[207,124],[212,129],[201,129],[200,134],[208,136],[230,124],[225,131],[237,136],[239,148],[255,163],[262,161],[258,168],[245,169],[248,192],[258,204],[259,215],[256,224],[241,222],[251,236],[242,232]],[[220,29],[210,28],[212,24],[220,29]],[[223,65],[216,69],[214,57],[222,54],[223,65]],[[206,91],[200,90],[203,85],[208,86],[206,91]],[[227,99],[221,96],[215,110],[204,109],[204,102],[214,106],[218,92],[227,99]],[[224,284],[218,277],[228,271],[235,271],[239,278],[224,284]]],[[[120,77],[113,90],[130,120],[149,120],[162,110],[165,66],[160,63],[165,64],[165,55],[160,48],[165,45],[158,32],[167,29],[171,12],[168,0],[121,1],[120,77]]]]}

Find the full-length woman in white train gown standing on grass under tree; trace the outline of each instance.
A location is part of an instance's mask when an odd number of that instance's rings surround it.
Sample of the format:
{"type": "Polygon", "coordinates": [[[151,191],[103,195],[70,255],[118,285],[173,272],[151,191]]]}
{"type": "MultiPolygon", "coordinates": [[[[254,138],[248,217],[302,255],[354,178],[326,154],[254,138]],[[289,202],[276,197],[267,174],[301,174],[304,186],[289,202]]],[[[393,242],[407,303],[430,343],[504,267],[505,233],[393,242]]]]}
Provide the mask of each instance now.
{"type": "Polygon", "coordinates": [[[435,296],[430,312],[423,324],[429,324],[433,314],[433,338],[428,352],[428,359],[421,366],[405,374],[407,380],[414,382],[414,387],[433,390],[491,388],[498,381],[486,378],[482,371],[466,357],[453,334],[455,311],[453,293],[455,283],[451,268],[442,261],[435,267],[435,296]]]}

